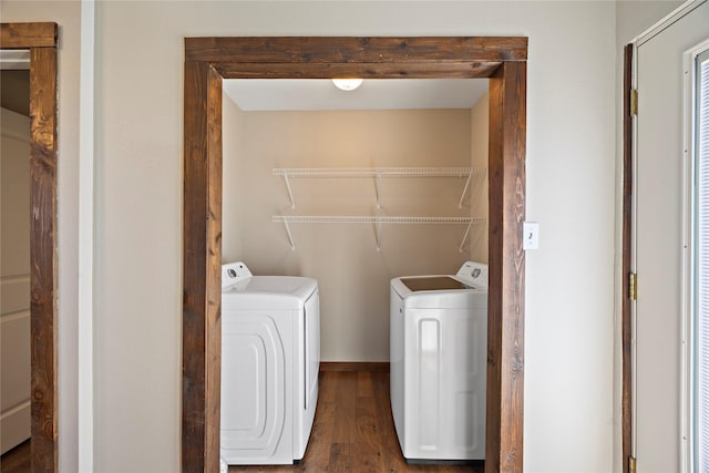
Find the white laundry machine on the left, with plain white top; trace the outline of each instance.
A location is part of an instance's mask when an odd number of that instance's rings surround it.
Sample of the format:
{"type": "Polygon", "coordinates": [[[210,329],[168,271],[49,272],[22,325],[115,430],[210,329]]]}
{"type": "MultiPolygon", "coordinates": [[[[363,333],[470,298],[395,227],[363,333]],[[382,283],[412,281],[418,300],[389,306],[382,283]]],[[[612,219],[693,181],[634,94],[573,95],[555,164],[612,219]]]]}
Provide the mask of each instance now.
{"type": "Polygon", "coordinates": [[[292,464],[318,400],[318,282],[222,266],[222,435],[227,464],[292,464]]]}

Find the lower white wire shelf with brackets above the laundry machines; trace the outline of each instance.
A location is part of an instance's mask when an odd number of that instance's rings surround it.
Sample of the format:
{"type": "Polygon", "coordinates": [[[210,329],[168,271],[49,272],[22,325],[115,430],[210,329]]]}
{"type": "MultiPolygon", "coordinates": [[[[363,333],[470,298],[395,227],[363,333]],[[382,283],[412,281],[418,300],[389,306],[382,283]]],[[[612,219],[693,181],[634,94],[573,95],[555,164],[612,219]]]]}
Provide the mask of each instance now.
{"type": "Polygon", "coordinates": [[[289,224],[374,224],[374,232],[377,237],[377,251],[381,249],[381,226],[382,224],[458,224],[467,225],[465,235],[459,250],[463,251],[463,245],[467,239],[470,227],[472,225],[482,224],[485,218],[473,217],[390,217],[390,216],[356,216],[356,215],[340,215],[340,216],[323,216],[323,215],[274,215],[273,222],[282,222],[288,234],[288,240],[290,241],[290,249],[296,249],[296,244],[290,233],[289,224]]]}

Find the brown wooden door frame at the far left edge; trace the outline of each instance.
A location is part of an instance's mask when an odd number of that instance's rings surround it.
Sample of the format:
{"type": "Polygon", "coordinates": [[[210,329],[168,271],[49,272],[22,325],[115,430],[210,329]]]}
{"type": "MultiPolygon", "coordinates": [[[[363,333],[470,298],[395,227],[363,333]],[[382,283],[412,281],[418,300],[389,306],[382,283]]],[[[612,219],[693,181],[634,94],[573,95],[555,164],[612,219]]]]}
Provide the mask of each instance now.
{"type": "MultiPolygon", "coordinates": [[[[58,471],[56,23],[2,23],[0,49],[30,50],[32,471],[58,471]]],[[[28,209],[30,210],[30,209],[28,209]]]]}

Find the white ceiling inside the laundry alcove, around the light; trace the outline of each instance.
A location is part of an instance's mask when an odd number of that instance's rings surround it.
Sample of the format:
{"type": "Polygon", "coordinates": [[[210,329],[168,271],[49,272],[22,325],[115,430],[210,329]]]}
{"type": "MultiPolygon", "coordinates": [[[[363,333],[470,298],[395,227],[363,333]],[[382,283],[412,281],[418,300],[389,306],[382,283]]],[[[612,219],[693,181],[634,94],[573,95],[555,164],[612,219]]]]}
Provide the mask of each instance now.
{"type": "Polygon", "coordinates": [[[223,84],[245,112],[472,109],[487,92],[486,79],[368,79],[349,92],[329,79],[228,79],[223,84]]]}

